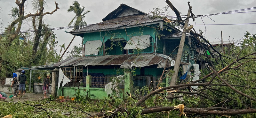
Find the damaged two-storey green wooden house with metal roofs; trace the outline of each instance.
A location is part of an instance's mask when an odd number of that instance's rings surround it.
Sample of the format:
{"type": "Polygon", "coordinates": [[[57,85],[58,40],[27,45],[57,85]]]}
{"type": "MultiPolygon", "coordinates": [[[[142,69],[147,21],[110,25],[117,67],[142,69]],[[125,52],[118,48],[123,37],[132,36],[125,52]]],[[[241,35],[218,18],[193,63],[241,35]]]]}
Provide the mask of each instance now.
{"type": "MultiPolygon", "coordinates": [[[[126,75],[120,85],[122,92],[131,93],[143,86],[154,88],[157,83],[151,81],[158,80],[165,67],[174,66],[182,34],[165,20],[125,4],[102,22],[68,33],[83,37],[84,56],[52,66],[61,68],[71,80],[58,93],[72,96],[74,88],[80,86],[86,88],[92,99],[107,97],[106,84],[119,75],[126,75]]],[[[181,65],[198,63],[198,43],[191,35],[186,36],[181,65]]]]}

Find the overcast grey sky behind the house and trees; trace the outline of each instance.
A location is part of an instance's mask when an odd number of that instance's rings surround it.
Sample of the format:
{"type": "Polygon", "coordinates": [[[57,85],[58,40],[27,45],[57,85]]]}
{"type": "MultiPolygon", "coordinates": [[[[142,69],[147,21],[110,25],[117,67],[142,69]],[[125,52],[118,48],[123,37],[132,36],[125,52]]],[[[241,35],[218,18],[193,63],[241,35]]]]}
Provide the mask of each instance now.
{"type": "MultiPolygon", "coordinates": [[[[26,13],[33,13],[31,10],[31,1],[26,2],[26,13]]],[[[68,26],[72,18],[75,17],[73,12],[68,13],[67,9],[72,5],[72,0],[55,0],[59,4],[59,10],[54,12],[53,15],[47,15],[44,19],[44,23],[48,23],[51,28],[53,27],[63,27],[68,26]]],[[[89,12],[84,20],[87,24],[95,24],[101,22],[101,19],[108,15],[111,11],[115,10],[120,4],[126,4],[130,7],[149,13],[153,8],[163,8],[167,6],[165,0],[77,0],[81,6],[85,7],[85,10],[89,12]]],[[[188,12],[188,0],[170,0],[172,4],[180,11],[181,15],[187,15],[188,12]]],[[[234,11],[246,8],[256,7],[255,0],[193,0],[190,1],[192,6],[192,12],[195,15],[206,15],[214,14],[226,11],[234,11]]],[[[10,17],[8,13],[12,7],[17,6],[15,0],[0,0],[0,18],[3,20],[4,26],[7,27],[10,23],[10,17]]],[[[47,5],[44,7],[45,11],[52,11],[55,9],[55,4],[53,0],[47,0],[47,5]]],[[[256,9],[248,10],[256,11],[256,9]]],[[[246,11],[241,11],[246,12],[246,11]]],[[[175,16],[175,13],[168,8],[168,15],[175,16]]],[[[208,17],[196,18],[195,22],[190,19],[189,23],[191,25],[203,25],[203,24],[243,24],[243,23],[256,23],[256,12],[249,13],[234,13],[234,14],[223,14],[223,15],[213,15],[208,17]],[[211,19],[212,20],[211,20],[211,19]],[[214,22],[214,21],[215,22],[214,22]]],[[[183,18],[184,19],[184,18],[183,18]]],[[[220,41],[221,34],[223,32],[223,41],[228,41],[230,39],[235,41],[243,38],[246,31],[251,34],[256,34],[256,24],[250,25],[206,25],[206,26],[194,26],[196,31],[201,29],[204,31],[204,36],[210,42],[220,41]]],[[[23,27],[21,31],[28,30],[28,26],[23,27]]],[[[71,31],[71,29],[66,29],[66,31],[71,31]]],[[[65,43],[66,47],[72,39],[72,35],[65,33],[64,30],[54,30],[58,45],[65,43]]],[[[74,45],[78,45],[82,42],[81,37],[76,37],[70,46],[70,49],[74,45]]],[[[60,48],[58,48],[58,51],[60,48]]]]}

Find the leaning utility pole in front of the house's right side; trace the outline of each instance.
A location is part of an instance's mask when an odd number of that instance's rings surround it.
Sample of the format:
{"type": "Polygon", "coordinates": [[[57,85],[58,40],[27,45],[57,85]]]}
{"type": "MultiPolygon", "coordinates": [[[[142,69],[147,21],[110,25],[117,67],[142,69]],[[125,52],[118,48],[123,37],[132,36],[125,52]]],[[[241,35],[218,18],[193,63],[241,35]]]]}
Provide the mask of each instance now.
{"type": "Polygon", "coordinates": [[[172,75],[172,79],[170,81],[170,86],[176,85],[178,72],[179,72],[179,68],[180,68],[180,59],[181,59],[181,56],[182,56],[184,42],[185,42],[185,38],[186,38],[186,32],[188,30],[190,30],[191,28],[193,28],[193,26],[188,27],[188,21],[189,21],[188,17],[190,16],[190,9],[192,9],[192,7],[188,9],[187,20],[185,21],[182,36],[181,36],[181,39],[180,39],[180,46],[179,46],[178,53],[177,53],[177,56],[176,56],[176,61],[175,61],[175,64],[174,64],[174,69],[173,69],[174,74],[172,75]]]}

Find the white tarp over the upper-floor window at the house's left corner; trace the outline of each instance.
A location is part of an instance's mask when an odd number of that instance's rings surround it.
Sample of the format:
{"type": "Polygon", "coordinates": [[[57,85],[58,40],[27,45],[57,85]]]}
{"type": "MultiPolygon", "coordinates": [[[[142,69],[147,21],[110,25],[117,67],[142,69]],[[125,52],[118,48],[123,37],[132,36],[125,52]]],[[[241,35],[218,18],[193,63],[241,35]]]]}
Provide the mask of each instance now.
{"type": "Polygon", "coordinates": [[[95,53],[99,53],[99,48],[101,47],[102,42],[100,40],[95,41],[87,41],[85,43],[84,55],[91,55],[95,53]]]}

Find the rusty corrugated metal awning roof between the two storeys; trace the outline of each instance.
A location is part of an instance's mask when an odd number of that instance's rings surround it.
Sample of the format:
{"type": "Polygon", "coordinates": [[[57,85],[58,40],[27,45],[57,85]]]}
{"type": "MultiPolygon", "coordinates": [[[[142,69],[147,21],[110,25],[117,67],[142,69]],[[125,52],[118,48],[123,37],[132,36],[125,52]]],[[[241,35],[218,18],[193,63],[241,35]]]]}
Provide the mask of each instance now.
{"type": "MultiPolygon", "coordinates": [[[[132,67],[146,67],[157,65],[157,68],[164,68],[167,59],[157,56],[153,53],[132,54],[132,55],[105,55],[105,56],[86,56],[71,57],[59,63],[54,67],[61,66],[97,66],[97,65],[120,65],[121,68],[131,69],[132,67]],[[164,64],[163,64],[164,63],[164,64]]],[[[169,65],[169,67],[171,64],[169,65]]]]}

